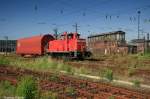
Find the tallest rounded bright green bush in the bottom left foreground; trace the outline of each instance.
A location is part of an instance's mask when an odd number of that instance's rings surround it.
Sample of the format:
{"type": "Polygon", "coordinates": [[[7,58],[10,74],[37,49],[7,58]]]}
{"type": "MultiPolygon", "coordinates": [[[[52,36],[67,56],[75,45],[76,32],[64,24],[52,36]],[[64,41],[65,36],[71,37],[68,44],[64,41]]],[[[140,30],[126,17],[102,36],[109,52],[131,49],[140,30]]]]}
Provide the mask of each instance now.
{"type": "Polygon", "coordinates": [[[18,83],[16,95],[24,99],[36,99],[38,97],[38,88],[32,77],[24,77],[18,83]]]}

